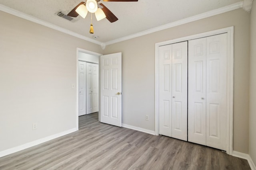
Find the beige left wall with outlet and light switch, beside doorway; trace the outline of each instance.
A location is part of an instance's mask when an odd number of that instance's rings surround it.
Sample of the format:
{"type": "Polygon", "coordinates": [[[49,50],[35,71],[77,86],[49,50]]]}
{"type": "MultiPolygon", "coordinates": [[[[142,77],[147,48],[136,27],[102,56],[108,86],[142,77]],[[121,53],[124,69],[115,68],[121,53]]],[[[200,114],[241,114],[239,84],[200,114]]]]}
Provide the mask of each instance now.
{"type": "Polygon", "coordinates": [[[0,151],[75,128],[76,48],[100,45],[1,11],[0,21],[0,151]]]}

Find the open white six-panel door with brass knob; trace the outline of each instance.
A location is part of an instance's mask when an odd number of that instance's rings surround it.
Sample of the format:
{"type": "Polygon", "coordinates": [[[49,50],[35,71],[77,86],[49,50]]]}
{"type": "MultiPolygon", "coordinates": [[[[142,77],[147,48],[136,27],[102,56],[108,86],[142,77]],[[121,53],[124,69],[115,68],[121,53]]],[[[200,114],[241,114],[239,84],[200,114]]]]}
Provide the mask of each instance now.
{"type": "Polygon", "coordinates": [[[100,56],[100,122],[122,126],[122,53],[100,56]]]}

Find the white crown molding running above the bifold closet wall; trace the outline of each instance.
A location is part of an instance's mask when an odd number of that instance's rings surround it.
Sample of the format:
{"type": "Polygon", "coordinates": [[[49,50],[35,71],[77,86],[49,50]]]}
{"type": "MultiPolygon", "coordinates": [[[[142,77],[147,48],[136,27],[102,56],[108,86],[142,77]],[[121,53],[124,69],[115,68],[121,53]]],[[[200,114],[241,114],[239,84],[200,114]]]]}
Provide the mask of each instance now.
{"type": "Polygon", "coordinates": [[[182,19],[182,20],[174,21],[172,23],[168,23],[166,25],[162,25],[162,26],[159,26],[159,27],[148,29],[146,31],[142,31],[142,32],[135,33],[135,34],[132,34],[132,35],[128,35],[126,37],[122,37],[122,38],[119,38],[119,39],[114,39],[112,41],[106,42],[106,45],[110,45],[110,44],[118,43],[118,42],[125,41],[125,40],[128,40],[128,39],[140,37],[142,35],[147,35],[147,34],[150,34],[150,33],[157,32],[157,31],[162,31],[164,29],[168,29],[168,28],[171,28],[171,27],[176,27],[178,25],[182,25],[182,24],[189,23],[189,22],[192,22],[192,21],[201,20],[201,19],[204,19],[204,18],[208,18],[208,17],[211,17],[211,16],[222,14],[224,12],[229,12],[229,11],[232,11],[232,10],[236,10],[236,9],[242,8],[242,6],[243,6],[243,2],[241,1],[241,2],[238,2],[238,3],[232,4],[232,5],[229,5],[229,6],[218,8],[216,10],[212,10],[212,11],[209,11],[209,12],[198,14],[196,16],[192,16],[192,17],[185,18],[185,19],[182,19]]]}

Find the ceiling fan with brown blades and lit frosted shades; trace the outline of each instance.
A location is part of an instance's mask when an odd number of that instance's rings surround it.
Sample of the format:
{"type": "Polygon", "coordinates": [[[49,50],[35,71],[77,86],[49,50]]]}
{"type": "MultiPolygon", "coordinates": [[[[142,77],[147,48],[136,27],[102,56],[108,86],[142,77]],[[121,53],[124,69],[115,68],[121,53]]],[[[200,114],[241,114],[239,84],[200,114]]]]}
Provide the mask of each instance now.
{"type": "MultiPolygon", "coordinates": [[[[70,17],[77,17],[78,15],[83,18],[86,17],[87,12],[95,13],[97,20],[107,18],[108,21],[115,22],[118,18],[106,7],[104,4],[99,3],[101,0],[86,0],[80,2],[73,10],[68,13],[70,17]],[[79,14],[78,14],[79,13],[79,14]]],[[[138,0],[103,0],[104,2],[138,2],[138,0]]]]}

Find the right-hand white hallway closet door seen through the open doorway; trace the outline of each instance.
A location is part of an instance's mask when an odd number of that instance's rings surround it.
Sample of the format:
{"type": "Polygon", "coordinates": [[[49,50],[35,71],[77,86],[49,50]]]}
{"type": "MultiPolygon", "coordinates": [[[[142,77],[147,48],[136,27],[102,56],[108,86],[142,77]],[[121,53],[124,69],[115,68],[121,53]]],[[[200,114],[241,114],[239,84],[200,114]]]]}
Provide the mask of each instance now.
{"type": "Polygon", "coordinates": [[[98,64],[86,63],[86,114],[98,111],[98,64]]]}

